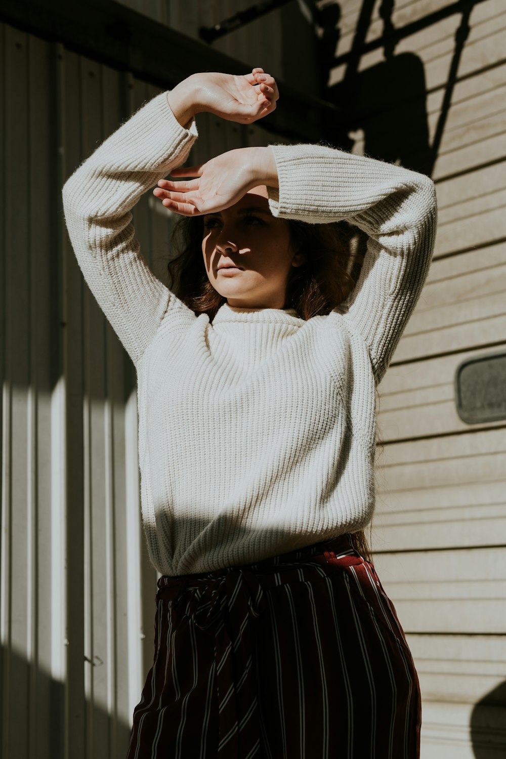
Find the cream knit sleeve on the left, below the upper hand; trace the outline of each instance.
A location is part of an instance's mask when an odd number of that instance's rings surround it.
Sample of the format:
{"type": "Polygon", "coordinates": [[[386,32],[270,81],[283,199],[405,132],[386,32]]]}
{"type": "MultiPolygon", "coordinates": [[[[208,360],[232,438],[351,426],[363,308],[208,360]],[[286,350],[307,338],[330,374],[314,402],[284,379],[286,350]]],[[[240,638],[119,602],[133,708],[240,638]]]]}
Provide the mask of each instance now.
{"type": "Polygon", "coordinates": [[[130,210],[149,187],[187,159],[198,136],[160,93],[84,161],[63,187],[68,234],[84,279],[137,366],[168,310],[187,307],[140,254],[130,210]]]}

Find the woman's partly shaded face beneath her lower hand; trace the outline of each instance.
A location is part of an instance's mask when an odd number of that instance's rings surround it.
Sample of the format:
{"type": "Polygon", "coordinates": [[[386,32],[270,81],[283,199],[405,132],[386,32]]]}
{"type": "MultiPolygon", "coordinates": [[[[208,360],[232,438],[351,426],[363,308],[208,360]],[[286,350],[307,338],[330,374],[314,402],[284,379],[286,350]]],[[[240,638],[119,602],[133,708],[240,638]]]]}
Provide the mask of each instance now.
{"type": "Polygon", "coordinates": [[[292,266],[288,221],[269,210],[267,189],[254,187],[219,213],[203,217],[202,252],[209,282],[230,306],[283,308],[292,266]]]}

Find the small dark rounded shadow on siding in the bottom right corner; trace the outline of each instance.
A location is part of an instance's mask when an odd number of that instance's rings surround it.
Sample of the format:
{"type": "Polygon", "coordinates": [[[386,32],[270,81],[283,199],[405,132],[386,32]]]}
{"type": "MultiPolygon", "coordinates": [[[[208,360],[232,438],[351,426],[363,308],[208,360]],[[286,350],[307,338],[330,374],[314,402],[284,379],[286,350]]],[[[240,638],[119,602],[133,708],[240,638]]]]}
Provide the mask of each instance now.
{"type": "Polygon", "coordinates": [[[505,729],[506,681],[487,693],[473,707],[471,741],[476,759],[499,757],[498,749],[504,751],[505,729]]]}

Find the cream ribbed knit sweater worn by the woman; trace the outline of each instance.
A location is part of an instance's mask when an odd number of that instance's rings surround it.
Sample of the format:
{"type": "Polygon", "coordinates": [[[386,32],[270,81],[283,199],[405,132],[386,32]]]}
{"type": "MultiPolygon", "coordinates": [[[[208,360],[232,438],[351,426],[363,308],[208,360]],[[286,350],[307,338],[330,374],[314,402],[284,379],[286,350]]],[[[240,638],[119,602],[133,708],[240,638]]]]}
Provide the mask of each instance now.
{"type": "Polygon", "coordinates": [[[212,324],[152,275],[130,224],[198,136],[166,93],[64,185],[83,276],[137,369],[143,525],[164,575],[250,563],[363,528],[374,508],[375,383],[420,295],[435,237],[426,176],[322,145],[272,145],[274,216],[369,235],[346,304],[225,304],[212,324]]]}

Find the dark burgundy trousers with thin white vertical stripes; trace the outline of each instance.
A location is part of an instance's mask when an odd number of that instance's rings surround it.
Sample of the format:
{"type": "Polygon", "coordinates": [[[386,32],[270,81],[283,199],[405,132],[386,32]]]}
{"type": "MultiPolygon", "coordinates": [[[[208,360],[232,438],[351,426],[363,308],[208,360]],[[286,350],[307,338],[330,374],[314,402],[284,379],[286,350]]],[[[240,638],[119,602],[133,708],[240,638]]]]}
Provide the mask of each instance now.
{"type": "Polygon", "coordinates": [[[413,659],[348,535],[158,585],[127,759],[420,756],[413,659]]]}

